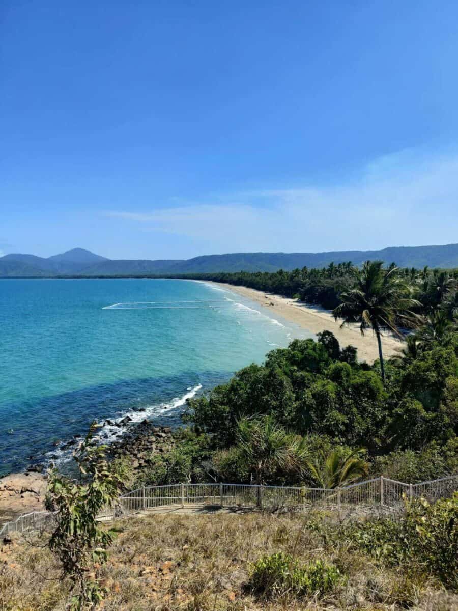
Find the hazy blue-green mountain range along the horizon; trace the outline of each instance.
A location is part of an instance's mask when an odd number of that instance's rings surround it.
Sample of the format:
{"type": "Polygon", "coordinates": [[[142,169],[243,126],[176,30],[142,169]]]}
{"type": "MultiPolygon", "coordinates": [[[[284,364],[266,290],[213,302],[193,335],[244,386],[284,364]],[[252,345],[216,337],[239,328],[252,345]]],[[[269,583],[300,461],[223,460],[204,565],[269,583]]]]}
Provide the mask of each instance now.
{"type": "Polygon", "coordinates": [[[458,244],[445,246],[393,246],[380,251],[332,252],[238,252],[181,259],[108,259],[82,248],[48,258],[29,254],[0,257],[0,277],[55,276],[173,276],[220,271],[276,271],[321,268],[329,263],[351,261],[361,265],[368,259],[394,262],[401,267],[458,267],[458,244]]]}

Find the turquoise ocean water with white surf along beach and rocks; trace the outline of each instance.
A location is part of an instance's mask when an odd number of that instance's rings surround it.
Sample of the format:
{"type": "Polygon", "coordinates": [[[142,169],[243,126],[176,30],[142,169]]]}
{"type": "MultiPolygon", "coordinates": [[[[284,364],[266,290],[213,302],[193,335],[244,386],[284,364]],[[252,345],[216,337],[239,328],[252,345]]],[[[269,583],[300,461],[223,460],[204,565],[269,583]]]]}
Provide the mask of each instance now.
{"type": "Polygon", "coordinates": [[[0,475],[65,464],[92,420],[179,425],[186,398],[311,336],[202,282],[0,280],[0,475]]]}

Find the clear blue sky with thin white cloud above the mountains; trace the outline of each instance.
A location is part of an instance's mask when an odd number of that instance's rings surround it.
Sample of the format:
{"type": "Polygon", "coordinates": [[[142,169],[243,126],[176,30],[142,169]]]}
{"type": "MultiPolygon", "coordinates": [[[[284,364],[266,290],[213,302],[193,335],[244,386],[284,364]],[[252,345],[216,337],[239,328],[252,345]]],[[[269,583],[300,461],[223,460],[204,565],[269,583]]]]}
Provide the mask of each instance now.
{"type": "Polygon", "coordinates": [[[458,241],[458,4],[3,0],[0,252],[458,241]]]}

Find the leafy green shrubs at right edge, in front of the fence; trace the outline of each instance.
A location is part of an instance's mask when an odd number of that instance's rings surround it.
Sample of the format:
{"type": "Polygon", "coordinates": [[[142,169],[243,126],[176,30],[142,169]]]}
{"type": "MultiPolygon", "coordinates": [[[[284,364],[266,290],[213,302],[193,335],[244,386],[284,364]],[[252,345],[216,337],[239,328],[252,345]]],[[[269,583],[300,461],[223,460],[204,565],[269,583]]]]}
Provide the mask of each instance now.
{"type": "Polygon", "coordinates": [[[445,587],[458,591],[458,492],[432,504],[413,500],[398,521],[353,522],[334,536],[411,573],[426,571],[445,587]]]}

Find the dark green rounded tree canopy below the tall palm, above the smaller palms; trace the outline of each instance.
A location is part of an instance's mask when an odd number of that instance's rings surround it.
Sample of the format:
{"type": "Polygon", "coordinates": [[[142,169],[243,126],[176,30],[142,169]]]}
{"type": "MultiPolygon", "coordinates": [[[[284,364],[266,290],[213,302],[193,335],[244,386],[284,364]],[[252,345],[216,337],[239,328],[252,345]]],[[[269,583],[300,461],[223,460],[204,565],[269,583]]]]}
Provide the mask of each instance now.
{"type": "Polygon", "coordinates": [[[458,433],[458,333],[435,342],[402,367],[387,364],[382,386],[377,366],[338,359],[336,342],[295,340],[267,355],[263,366],[236,373],[228,384],[189,401],[187,421],[205,431],[214,448],[236,444],[241,417],[272,414],[278,425],[337,444],[365,446],[380,455],[421,450],[458,433]]]}

